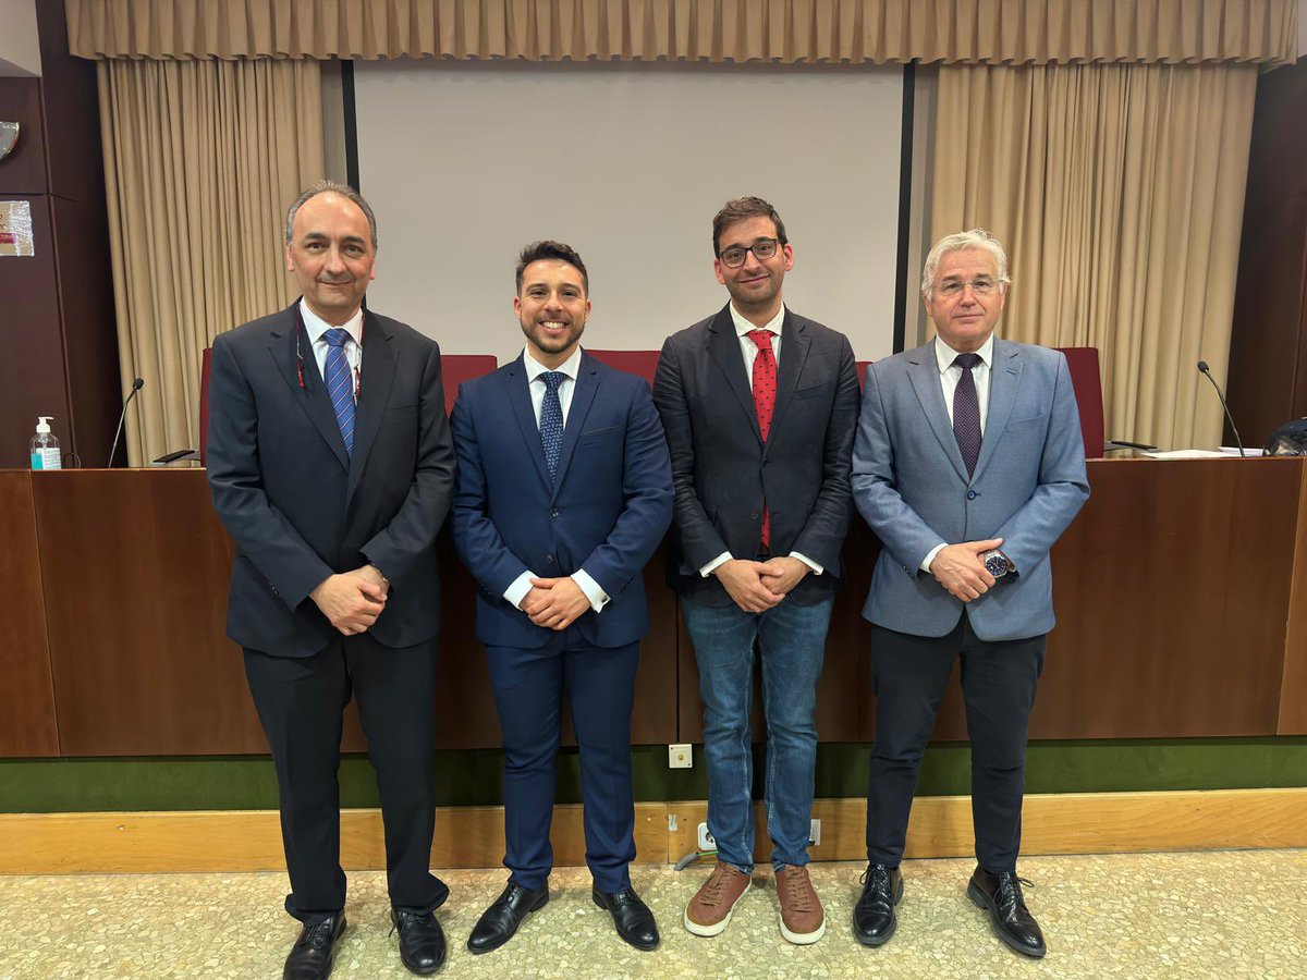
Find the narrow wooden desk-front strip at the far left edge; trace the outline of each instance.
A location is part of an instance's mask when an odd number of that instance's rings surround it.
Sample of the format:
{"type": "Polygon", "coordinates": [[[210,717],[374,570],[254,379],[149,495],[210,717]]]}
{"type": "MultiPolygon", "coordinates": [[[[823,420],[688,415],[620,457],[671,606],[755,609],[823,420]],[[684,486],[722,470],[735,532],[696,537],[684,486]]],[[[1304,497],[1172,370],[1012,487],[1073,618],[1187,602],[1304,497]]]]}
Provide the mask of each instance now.
{"type": "Polygon", "coordinates": [[[13,758],[59,754],[31,480],[31,473],[0,472],[0,581],[8,598],[0,634],[0,757],[13,758]]]}

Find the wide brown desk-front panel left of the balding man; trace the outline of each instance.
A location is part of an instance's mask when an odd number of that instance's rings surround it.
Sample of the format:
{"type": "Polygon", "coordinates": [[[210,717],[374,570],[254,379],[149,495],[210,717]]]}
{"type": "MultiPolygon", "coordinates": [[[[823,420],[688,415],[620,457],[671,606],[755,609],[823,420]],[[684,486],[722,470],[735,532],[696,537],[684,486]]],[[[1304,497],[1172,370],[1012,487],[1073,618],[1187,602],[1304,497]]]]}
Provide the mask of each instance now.
{"type": "Polygon", "coordinates": [[[265,753],[223,636],[231,550],[196,470],[43,474],[37,528],[65,755],[265,753]]]}

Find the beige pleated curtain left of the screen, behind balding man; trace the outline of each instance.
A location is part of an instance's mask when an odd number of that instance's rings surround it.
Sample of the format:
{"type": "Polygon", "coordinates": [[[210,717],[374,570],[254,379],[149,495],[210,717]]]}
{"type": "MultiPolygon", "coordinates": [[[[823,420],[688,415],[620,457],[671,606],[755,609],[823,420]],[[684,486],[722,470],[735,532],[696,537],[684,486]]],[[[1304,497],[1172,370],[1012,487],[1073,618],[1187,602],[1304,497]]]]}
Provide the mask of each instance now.
{"type": "Polygon", "coordinates": [[[199,447],[213,337],[286,306],[286,205],[323,176],[316,61],[102,61],[101,135],[131,465],[199,447]]]}

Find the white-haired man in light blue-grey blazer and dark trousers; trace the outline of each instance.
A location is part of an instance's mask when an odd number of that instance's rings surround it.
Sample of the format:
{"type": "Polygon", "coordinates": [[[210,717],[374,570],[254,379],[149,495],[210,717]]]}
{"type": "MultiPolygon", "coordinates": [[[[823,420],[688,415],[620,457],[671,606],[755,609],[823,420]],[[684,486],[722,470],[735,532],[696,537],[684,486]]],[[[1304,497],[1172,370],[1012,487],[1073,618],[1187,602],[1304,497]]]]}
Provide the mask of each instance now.
{"type": "Polygon", "coordinates": [[[1053,626],[1048,551],[1089,482],[1067,359],[993,336],[1009,285],[988,233],[948,235],[921,276],[937,337],[867,370],[852,489],[884,545],[863,609],[877,707],[853,933],[868,946],[897,928],[921,754],[961,657],[978,861],[967,894],[1000,939],[1046,953],[1017,877],[1026,736],[1053,626]]]}

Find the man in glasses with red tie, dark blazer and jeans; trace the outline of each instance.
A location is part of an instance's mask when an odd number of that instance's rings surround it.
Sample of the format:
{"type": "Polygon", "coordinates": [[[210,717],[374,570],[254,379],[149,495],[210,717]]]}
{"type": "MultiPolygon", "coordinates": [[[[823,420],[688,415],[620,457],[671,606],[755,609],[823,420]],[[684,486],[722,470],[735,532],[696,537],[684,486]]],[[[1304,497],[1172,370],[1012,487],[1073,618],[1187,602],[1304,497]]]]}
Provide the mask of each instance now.
{"type": "Polygon", "coordinates": [[[852,515],[857,368],[844,335],[782,302],[795,251],[775,208],[729,201],[712,222],[712,253],[731,302],[668,337],[654,379],[676,491],[668,581],[699,664],[719,858],[681,921],[716,936],[749,889],[757,644],[780,933],[810,943],[826,929],[808,877],[816,686],[852,515]]]}

